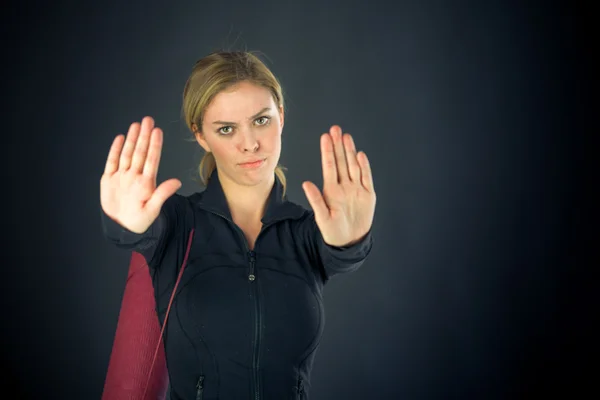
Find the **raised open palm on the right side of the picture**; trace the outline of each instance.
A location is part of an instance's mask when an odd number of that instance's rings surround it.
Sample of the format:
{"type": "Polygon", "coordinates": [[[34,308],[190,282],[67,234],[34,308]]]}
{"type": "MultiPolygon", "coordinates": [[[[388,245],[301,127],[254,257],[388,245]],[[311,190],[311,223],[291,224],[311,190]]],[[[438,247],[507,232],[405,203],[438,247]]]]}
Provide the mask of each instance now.
{"type": "Polygon", "coordinates": [[[321,136],[323,194],[312,182],[302,188],[321,235],[330,246],[359,242],[371,229],[375,215],[375,190],[367,155],[356,152],[350,134],[334,125],[321,136]]]}

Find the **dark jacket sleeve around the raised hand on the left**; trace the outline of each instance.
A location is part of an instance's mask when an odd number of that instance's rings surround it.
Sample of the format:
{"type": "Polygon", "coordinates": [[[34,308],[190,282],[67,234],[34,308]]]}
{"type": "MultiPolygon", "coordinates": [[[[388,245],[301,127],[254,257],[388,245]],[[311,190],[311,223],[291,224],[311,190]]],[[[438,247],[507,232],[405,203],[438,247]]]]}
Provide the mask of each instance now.
{"type": "Polygon", "coordinates": [[[110,218],[100,207],[104,238],[120,249],[140,253],[149,265],[160,262],[160,256],[180,220],[180,195],[174,194],[163,204],[160,214],[144,233],[135,233],[110,218]]]}

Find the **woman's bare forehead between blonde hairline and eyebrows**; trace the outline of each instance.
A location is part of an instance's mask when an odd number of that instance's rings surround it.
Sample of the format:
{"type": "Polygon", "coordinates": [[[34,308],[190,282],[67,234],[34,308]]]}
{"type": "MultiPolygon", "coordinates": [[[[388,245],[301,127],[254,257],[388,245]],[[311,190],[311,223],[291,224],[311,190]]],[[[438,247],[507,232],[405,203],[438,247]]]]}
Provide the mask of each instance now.
{"type": "Polygon", "coordinates": [[[238,83],[217,94],[206,109],[206,120],[242,120],[265,107],[276,108],[273,95],[262,86],[238,83]]]}

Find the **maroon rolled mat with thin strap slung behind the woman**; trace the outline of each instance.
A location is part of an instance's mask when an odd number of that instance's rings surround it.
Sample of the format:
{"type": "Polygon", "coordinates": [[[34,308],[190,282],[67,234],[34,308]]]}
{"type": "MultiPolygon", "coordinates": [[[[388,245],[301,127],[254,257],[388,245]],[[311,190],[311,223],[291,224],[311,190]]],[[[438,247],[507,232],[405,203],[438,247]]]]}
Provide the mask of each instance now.
{"type": "Polygon", "coordinates": [[[165,398],[169,376],[164,347],[161,346],[162,336],[187,263],[193,236],[194,229],[190,232],[183,264],[169,300],[162,329],[156,315],[154,288],[148,264],[140,253],[133,252],[102,400],[165,398]]]}

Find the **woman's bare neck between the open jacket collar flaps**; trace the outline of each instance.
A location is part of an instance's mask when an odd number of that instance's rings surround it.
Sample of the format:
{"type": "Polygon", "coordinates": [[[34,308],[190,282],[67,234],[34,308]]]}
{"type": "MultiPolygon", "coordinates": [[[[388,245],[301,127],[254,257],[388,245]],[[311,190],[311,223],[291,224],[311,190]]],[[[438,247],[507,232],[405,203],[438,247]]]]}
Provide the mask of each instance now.
{"type": "Polygon", "coordinates": [[[224,174],[219,174],[219,181],[229,206],[231,218],[240,222],[260,222],[275,183],[275,174],[272,174],[271,179],[253,186],[235,183],[224,174]]]}

